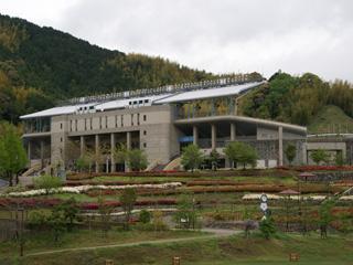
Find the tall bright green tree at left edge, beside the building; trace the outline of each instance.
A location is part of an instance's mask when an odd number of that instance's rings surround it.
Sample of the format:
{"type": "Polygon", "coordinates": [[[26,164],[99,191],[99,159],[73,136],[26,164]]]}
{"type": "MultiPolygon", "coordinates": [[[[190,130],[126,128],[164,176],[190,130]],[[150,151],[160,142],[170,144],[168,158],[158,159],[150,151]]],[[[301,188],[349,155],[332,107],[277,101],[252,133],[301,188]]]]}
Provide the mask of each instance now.
{"type": "Polygon", "coordinates": [[[18,174],[25,168],[28,158],[22,140],[13,125],[0,125],[0,176],[9,181],[9,186],[19,182],[18,174]]]}

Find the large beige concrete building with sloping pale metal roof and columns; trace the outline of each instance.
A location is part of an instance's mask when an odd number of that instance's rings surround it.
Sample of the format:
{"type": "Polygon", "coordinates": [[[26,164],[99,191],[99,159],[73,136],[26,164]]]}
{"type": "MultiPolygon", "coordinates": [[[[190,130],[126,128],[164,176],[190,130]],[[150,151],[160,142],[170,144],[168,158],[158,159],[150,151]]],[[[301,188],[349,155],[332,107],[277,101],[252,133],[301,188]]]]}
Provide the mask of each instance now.
{"type": "Polygon", "coordinates": [[[103,152],[96,171],[126,170],[111,155],[119,144],[143,149],[150,169],[173,165],[189,144],[205,153],[216,149],[227,167],[223,149],[229,141],[253,145],[261,168],[282,165],[289,142],[297,146],[295,162],[306,162],[304,127],[237,115],[238,99],[265,83],[224,78],[74,98],[22,116],[24,145],[32,165],[42,167],[71,168],[87,150],[103,152]]]}

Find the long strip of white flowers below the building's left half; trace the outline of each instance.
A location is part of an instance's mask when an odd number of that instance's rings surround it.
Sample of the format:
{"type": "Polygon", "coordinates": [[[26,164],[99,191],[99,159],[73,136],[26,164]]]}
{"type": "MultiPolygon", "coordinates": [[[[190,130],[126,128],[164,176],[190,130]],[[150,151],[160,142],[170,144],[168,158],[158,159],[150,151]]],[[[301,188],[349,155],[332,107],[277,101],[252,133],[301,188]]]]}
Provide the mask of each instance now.
{"type": "MultiPolygon", "coordinates": [[[[124,190],[124,189],[171,189],[181,187],[181,182],[168,182],[161,184],[126,184],[126,186],[77,186],[77,187],[62,187],[56,189],[51,189],[49,191],[50,194],[56,193],[84,193],[89,190],[124,190]]],[[[8,197],[34,197],[34,195],[44,195],[46,194],[46,190],[39,189],[39,190],[29,190],[22,192],[10,192],[8,197]]]]}

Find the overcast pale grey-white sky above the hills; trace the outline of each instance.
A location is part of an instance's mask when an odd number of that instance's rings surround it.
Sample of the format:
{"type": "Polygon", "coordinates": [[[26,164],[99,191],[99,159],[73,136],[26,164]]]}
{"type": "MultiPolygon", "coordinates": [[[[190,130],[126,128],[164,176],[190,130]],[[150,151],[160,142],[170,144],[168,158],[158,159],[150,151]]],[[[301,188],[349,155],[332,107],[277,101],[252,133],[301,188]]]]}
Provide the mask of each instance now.
{"type": "Polygon", "coordinates": [[[351,82],[352,11],[352,0],[0,0],[1,13],[126,53],[351,82]]]}

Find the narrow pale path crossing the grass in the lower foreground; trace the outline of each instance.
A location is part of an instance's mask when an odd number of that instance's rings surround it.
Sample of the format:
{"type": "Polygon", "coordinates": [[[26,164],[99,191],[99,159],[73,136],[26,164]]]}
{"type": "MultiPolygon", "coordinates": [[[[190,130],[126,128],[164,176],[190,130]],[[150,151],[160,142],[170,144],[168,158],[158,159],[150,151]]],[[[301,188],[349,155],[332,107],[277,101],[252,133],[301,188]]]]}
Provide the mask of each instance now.
{"type": "Polygon", "coordinates": [[[165,239],[165,240],[140,241],[140,242],[132,242],[132,243],[119,243],[119,244],[99,245],[99,246],[61,248],[61,250],[54,250],[54,251],[29,253],[25,256],[40,256],[40,255],[50,255],[50,254],[58,254],[58,253],[63,253],[63,252],[76,252],[76,251],[94,251],[94,250],[110,248],[110,247],[139,246],[139,245],[143,245],[143,244],[159,245],[159,244],[165,244],[165,243],[179,243],[179,242],[188,242],[188,241],[196,241],[196,240],[210,240],[210,239],[217,239],[217,237],[226,237],[226,236],[229,236],[233,234],[238,234],[242,232],[242,231],[221,230],[221,229],[203,229],[201,231],[212,233],[212,234],[191,236],[191,237],[182,237],[182,239],[165,239]]]}

